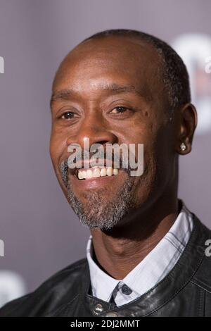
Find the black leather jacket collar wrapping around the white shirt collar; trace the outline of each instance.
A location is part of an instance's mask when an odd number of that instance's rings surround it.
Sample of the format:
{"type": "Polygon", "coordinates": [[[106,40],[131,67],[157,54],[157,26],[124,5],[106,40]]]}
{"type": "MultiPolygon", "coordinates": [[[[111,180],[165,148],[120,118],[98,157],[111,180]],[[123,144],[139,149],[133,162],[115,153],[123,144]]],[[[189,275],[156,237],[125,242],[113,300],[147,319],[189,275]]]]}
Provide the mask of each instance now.
{"type": "Polygon", "coordinates": [[[129,302],[129,304],[112,309],[112,305],[108,302],[91,296],[89,292],[91,282],[87,262],[82,270],[79,294],[50,316],[96,316],[95,308],[98,304],[102,307],[102,311],[98,313],[98,316],[114,313],[119,317],[143,317],[158,311],[190,282],[205,256],[205,241],[210,237],[210,230],[200,223],[195,214],[192,213],[192,215],[193,231],[183,254],[170,273],[153,289],[150,289],[138,299],[129,302]]]}

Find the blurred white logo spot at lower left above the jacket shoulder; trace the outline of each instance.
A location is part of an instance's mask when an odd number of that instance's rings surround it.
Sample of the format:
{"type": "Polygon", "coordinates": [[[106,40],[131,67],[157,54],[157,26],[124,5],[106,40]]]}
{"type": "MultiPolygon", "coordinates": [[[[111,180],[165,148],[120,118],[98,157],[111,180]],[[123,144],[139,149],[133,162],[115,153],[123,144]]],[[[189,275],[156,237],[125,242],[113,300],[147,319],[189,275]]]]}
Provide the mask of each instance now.
{"type": "Polygon", "coordinates": [[[0,270],[0,307],[26,293],[23,277],[11,270],[0,270]]]}

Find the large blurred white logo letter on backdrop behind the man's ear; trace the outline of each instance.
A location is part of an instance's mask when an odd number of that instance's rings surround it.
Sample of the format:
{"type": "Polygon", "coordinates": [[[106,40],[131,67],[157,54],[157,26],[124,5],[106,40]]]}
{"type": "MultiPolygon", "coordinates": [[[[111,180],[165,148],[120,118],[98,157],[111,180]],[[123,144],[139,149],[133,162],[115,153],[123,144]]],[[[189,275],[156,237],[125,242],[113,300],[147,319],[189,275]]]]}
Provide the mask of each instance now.
{"type": "Polygon", "coordinates": [[[180,35],[172,47],[183,59],[191,82],[192,102],[198,111],[196,135],[211,132],[211,36],[180,35]]]}

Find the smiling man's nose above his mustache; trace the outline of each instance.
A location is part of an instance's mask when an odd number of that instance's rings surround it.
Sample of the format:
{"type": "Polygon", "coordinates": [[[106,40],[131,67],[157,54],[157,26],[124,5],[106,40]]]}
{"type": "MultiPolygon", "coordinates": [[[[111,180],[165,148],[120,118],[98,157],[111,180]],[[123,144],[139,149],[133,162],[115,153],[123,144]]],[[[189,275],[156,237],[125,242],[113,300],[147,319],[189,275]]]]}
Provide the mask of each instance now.
{"type": "Polygon", "coordinates": [[[92,144],[115,144],[117,136],[111,132],[110,127],[106,125],[105,120],[100,115],[89,115],[79,125],[75,135],[70,135],[67,139],[67,145],[79,144],[84,146],[89,140],[89,146],[92,144]]]}

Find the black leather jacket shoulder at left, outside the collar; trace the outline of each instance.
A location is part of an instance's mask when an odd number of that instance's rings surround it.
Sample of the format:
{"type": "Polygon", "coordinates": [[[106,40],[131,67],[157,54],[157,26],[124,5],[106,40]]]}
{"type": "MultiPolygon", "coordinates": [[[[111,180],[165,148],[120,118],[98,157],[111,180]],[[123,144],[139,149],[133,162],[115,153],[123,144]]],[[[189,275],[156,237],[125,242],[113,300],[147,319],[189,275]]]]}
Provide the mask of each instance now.
{"type": "Polygon", "coordinates": [[[87,280],[89,266],[87,258],[82,258],[49,277],[34,292],[8,302],[0,308],[0,317],[44,316],[74,299],[88,285],[87,280]]]}

